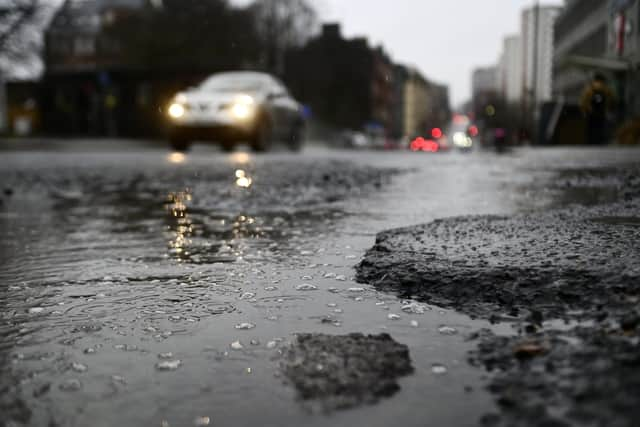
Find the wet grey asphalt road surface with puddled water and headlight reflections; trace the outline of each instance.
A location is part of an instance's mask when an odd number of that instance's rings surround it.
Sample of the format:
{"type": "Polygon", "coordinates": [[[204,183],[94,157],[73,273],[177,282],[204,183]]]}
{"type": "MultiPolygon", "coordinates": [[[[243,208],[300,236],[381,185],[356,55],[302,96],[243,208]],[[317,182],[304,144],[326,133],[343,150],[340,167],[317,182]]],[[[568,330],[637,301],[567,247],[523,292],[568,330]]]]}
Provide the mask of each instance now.
{"type": "Polygon", "coordinates": [[[640,162],[615,148],[25,145],[0,151],[0,422],[34,426],[478,425],[495,404],[465,337],[512,325],[407,304],[354,266],[393,227],[607,203],[615,182],[559,183],[640,162]],[[411,368],[373,404],[302,401],[283,369],[294,334],[352,332],[389,334],[411,368]]]}

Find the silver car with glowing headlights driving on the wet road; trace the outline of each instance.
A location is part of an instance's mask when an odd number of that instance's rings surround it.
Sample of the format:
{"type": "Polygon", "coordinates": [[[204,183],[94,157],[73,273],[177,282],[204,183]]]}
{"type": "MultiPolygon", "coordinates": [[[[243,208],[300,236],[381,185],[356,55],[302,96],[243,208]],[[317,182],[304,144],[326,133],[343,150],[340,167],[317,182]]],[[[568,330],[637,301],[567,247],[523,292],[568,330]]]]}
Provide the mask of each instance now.
{"type": "Polygon", "coordinates": [[[258,72],[214,74],[199,86],[178,93],[167,110],[169,141],[184,151],[192,141],[216,141],[225,151],[248,142],[266,151],[274,141],[292,150],[303,143],[300,104],[275,77],[258,72]]]}

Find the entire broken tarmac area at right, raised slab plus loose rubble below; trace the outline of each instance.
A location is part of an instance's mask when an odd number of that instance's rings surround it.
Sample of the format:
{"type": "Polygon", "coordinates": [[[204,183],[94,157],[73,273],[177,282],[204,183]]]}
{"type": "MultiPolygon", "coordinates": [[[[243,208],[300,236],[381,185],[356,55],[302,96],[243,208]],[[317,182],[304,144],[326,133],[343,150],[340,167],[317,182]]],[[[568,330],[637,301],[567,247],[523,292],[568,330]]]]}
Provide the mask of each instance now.
{"type": "Polygon", "coordinates": [[[585,206],[381,233],[357,266],[357,280],[380,290],[519,322],[522,335],[471,337],[470,362],[494,372],[499,408],[481,425],[638,425],[640,171],[630,170],[578,174],[580,187],[618,183],[585,206]],[[555,319],[568,326],[545,322],[555,319]]]}

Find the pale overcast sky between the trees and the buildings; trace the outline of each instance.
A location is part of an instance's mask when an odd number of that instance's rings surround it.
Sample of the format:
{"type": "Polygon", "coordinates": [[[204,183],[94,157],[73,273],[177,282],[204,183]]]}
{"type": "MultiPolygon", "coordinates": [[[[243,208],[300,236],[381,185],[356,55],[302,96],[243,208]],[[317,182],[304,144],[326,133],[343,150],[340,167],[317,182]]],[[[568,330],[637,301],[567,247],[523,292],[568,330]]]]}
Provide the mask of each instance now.
{"type": "MultiPolygon", "coordinates": [[[[449,85],[453,106],[471,95],[471,70],[495,63],[533,0],[311,0],[347,37],[365,35],[396,62],[449,85]]],[[[551,0],[544,4],[562,4],[551,0]]]]}

